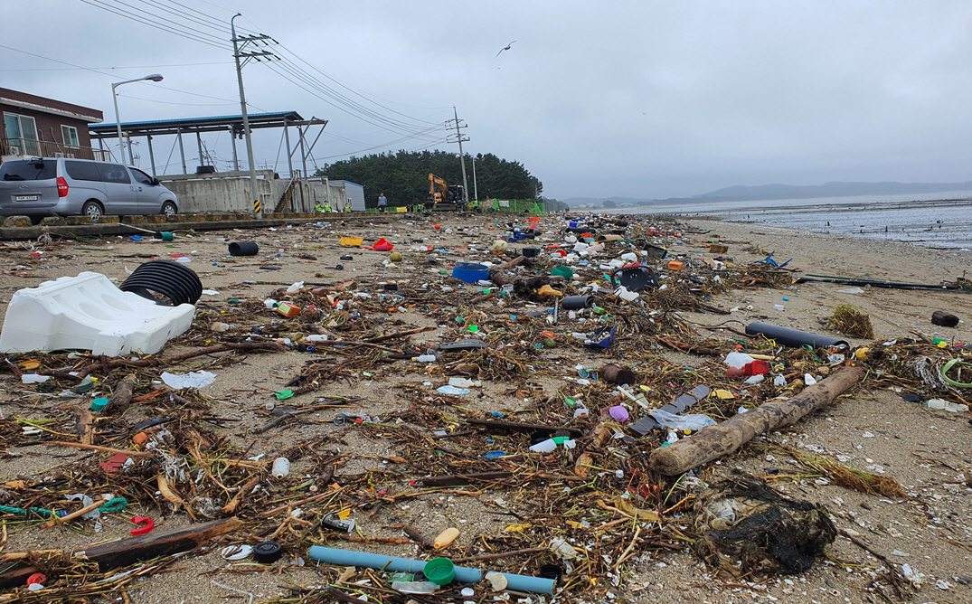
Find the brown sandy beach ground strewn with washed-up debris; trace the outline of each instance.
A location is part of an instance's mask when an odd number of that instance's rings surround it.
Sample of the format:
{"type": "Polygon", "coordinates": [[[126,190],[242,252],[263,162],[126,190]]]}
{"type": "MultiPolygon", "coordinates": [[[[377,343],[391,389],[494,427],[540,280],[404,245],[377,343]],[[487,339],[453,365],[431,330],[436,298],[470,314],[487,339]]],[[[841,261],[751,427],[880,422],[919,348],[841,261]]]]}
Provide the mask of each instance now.
{"type": "MultiPolygon", "coordinates": [[[[573,546],[575,557],[568,561],[575,572],[564,575],[561,586],[565,588],[555,591],[553,597],[494,594],[489,583],[483,581],[475,586],[473,596],[462,595],[461,587],[451,586],[444,595],[423,595],[415,601],[485,602],[495,597],[510,602],[885,601],[876,590],[896,601],[895,587],[882,579],[888,572],[905,578],[900,588],[910,594],[912,601],[972,601],[970,414],[967,410],[949,412],[905,401],[891,389],[895,380],[905,384],[906,391],[908,384],[920,382],[913,374],[889,373],[890,368],[898,366],[887,358],[881,363],[863,362],[868,374],[850,396],[841,397],[833,406],[793,426],[764,435],[760,443],[766,446],[748,444],[738,453],[704,465],[693,475],[712,484],[740,470],[770,480],[789,497],[825,506],[842,534],[807,572],[726,578],[717,576],[715,569],[700,560],[692,550],[697,536],[693,537],[691,521],[692,501],[699,492],[675,479],[649,478],[645,474],[647,455],[664,441],[665,435],[638,438],[632,433],[630,424],[641,411],[637,407],[631,409],[632,421],[615,428],[618,433],[633,437],[634,444],[612,439],[591,448],[596,453],[592,467],[582,469],[583,479],[573,474],[579,451],[592,444],[590,434],[596,419],[618,402],[614,385],[603,379],[586,380],[577,372],[578,366],[591,372],[610,363],[631,369],[639,376],[639,384],[651,388],[648,400],[652,407],[664,405],[699,384],[725,388],[736,398],[712,407],[724,413],[715,417],[718,421],[735,414],[739,407],[752,409],[781,394],[781,388],[774,389],[770,380],[747,389],[739,380],[725,377],[721,357],[674,350],[661,343],[661,337],[705,343],[722,353],[735,350],[739,343],[743,351],[778,354],[779,362],[786,366],[781,373],[820,373],[822,367],[825,375],[830,371],[825,359],[815,362],[810,357],[794,356],[792,351],[757,346],[753,340],[732,332],[706,330],[705,326],[742,330],[746,324],[760,321],[842,337],[825,325],[825,319],[838,304],[846,303],[868,315],[874,329],[874,338],[843,337],[851,348],[892,340],[920,342],[921,338],[941,338],[946,348],[939,351],[957,356],[962,349],[953,347],[955,343],[972,342],[972,295],[968,293],[880,288],[845,293],[850,286],[794,285],[786,275],[773,284],[722,291],[724,288],[713,277],[721,273],[728,280],[732,266],[746,270],[750,263],[765,258],[759,250],[774,252],[778,263],[792,259],[785,266],[794,271],[792,275],[839,275],[924,284],[954,282],[966,270],[972,270],[972,253],[715,220],[665,224],[660,227],[663,231],[679,231],[680,236],[656,235],[655,240],[664,244],[671,256],[682,259],[686,267],[674,271],[656,262],[662,283],[670,287],[636,302],[620,301],[613,294],[601,295],[599,304],[607,310],[608,317],[614,317],[613,324],[620,333],[611,347],[591,351],[571,334],[591,331],[594,322],[601,321],[597,315],[588,315],[587,321],[581,322],[561,311],[558,323],[551,325],[543,318],[527,315],[529,311],[545,315],[548,303],[516,295],[501,297],[498,292],[492,298],[484,297],[481,286],[463,284],[449,276],[455,262],[511,260],[512,253],[494,255],[490,250],[512,220],[489,214],[438,216],[434,220],[376,215],[364,221],[335,218],[322,221],[322,226],[300,225],[273,231],[177,232],[168,246],[160,241],[135,242],[126,237],[90,243],[61,240],[43,248],[40,256],[31,255],[40,248],[8,246],[4,251],[4,274],[0,276],[4,310],[14,292],[36,287],[41,281],[94,270],[121,282],[128,270],[145,262],[144,256],[181,254],[190,258],[187,266],[198,273],[203,287],[218,294],[202,297],[191,330],[170,342],[161,356],[220,341],[260,339],[251,329],[256,326],[270,326],[273,329],[266,332],[274,337],[307,335],[320,328],[331,340],[349,341],[428,328],[379,342],[397,351],[410,347],[416,356],[425,353],[431,343],[463,338],[482,338],[488,346],[487,352],[459,353],[460,356],[449,357],[447,363],[441,360],[434,364],[410,358],[391,360],[386,358],[386,350],[358,345],[330,348],[330,353],[322,348],[312,353],[291,348],[287,352],[252,352],[226,359],[224,355],[211,355],[165,368],[172,373],[211,371],[217,378],[199,389],[201,396],[183,392],[191,399],[190,405],[175,403],[162,394],[132,404],[121,417],[98,422],[95,444],[136,450],[131,438],[139,432],[134,428],[138,422],[162,416],[181,418],[165,427],[175,442],[161,444],[157,450],[167,450],[167,455],[184,460],[180,463],[185,464],[186,476],[174,479],[173,485],[191,501],[191,509],[200,521],[224,517],[220,508],[250,480],[247,472],[218,464],[218,457],[256,457],[258,464],[281,455],[291,457],[291,477],[287,480],[273,480],[266,476],[266,468],[255,471],[253,476],[260,478],[248,485],[252,494],[233,513],[247,522],[246,528],[222,539],[223,544],[254,545],[272,537],[284,546],[285,553],[281,561],[263,566],[253,560],[227,561],[220,555],[220,548],[213,547],[173,560],[166,572],[132,578],[103,595],[92,593],[85,601],[245,603],[250,601],[248,594],[252,594],[253,602],[334,601],[332,595],[321,590],[337,585],[344,569],[316,567],[307,554],[312,545],[406,558],[472,558],[464,564],[491,564],[504,572],[536,576],[542,564],[567,566],[562,557],[549,551],[551,541],[557,539],[566,539],[573,546]],[[341,247],[341,236],[364,237],[365,245],[385,237],[394,243],[396,251],[400,250],[403,259],[386,266],[388,252],[341,247]],[[227,259],[226,242],[239,239],[257,241],[260,255],[227,259]],[[709,242],[721,242],[729,251],[713,254],[703,246],[709,242]],[[433,249],[418,249],[425,245],[433,249]],[[340,260],[348,254],[353,260],[340,260]],[[729,271],[713,271],[713,259],[721,259],[719,262],[729,265],[729,271]],[[335,269],[339,263],[344,265],[342,270],[335,269]],[[268,265],[280,268],[260,268],[268,265]],[[664,312],[666,308],[661,303],[666,296],[676,300],[676,296],[687,296],[689,287],[694,287],[687,282],[690,274],[700,277],[703,285],[699,287],[712,288],[712,295],[701,302],[725,311],[734,310],[725,314],[706,311],[699,306],[699,299],[689,297],[686,300],[695,302],[673,302],[675,316],[664,312]],[[304,281],[307,290],[323,287],[334,300],[349,304],[345,306],[347,311],[338,314],[336,306],[321,299],[319,307],[330,306],[330,310],[322,312],[320,318],[288,323],[262,306],[261,301],[266,298],[284,300],[283,290],[297,281],[304,281]],[[389,282],[397,284],[396,291],[386,291],[384,286],[389,282]],[[366,296],[355,297],[353,293],[366,296]],[[389,297],[379,300],[379,295],[389,297]],[[393,295],[396,298],[391,298],[393,295]],[[473,302],[478,299],[482,300],[473,302]],[[782,310],[775,305],[781,305],[782,310]],[[930,317],[935,310],[953,313],[962,321],[955,328],[933,325],[930,317]],[[209,325],[217,320],[228,323],[231,329],[225,334],[212,332],[209,325]],[[470,326],[476,329],[470,330],[470,326]],[[552,337],[540,335],[547,331],[552,332],[552,337]],[[546,340],[552,340],[550,347],[546,347],[546,340]],[[300,375],[309,377],[295,384],[295,377],[300,375]],[[482,383],[467,388],[468,394],[441,394],[436,389],[447,384],[450,377],[480,379],[482,383]],[[306,387],[308,391],[293,399],[278,400],[274,396],[275,392],[295,387],[306,387]],[[588,417],[574,418],[574,409],[565,405],[566,397],[583,401],[589,409],[588,417]],[[347,407],[307,411],[258,432],[276,417],[267,409],[268,404],[295,409],[339,404],[347,407]],[[342,411],[365,413],[373,421],[352,420],[335,425],[333,417],[342,411]],[[226,420],[212,422],[206,417],[226,420]],[[484,429],[467,423],[469,419],[573,427],[583,436],[577,438],[580,448],[558,447],[544,456],[529,451],[529,433],[484,429]],[[192,428],[198,432],[195,452],[204,463],[192,454],[192,428]],[[767,448],[769,445],[891,478],[901,485],[903,494],[888,496],[840,485],[801,465],[783,449],[767,448]],[[485,459],[483,455],[489,451],[502,451],[503,456],[485,459]],[[508,471],[512,476],[447,486],[441,493],[424,489],[421,482],[423,478],[483,472],[485,468],[508,471]],[[332,476],[322,480],[322,474],[329,469],[332,476]],[[223,480],[213,478],[211,473],[218,472],[223,473],[223,480]],[[640,492],[654,492],[652,488],[661,489],[665,506],[660,508],[653,495],[640,496],[640,492]],[[411,491],[421,492],[401,496],[411,491]],[[286,507],[324,492],[332,495],[286,507]],[[660,521],[633,520],[630,512],[625,514],[617,507],[615,498],[621,495],[638,509],[661,514],[660,521]],[[284,506],[282,513],[267,515],[280,506],[284,506]],[[326,512],[337,510],[349,512],[349,517],[356,520],[358,529],[351,536],[360,536],[358,543],[349,542],[347,534],[330,533],[329,537],[329,533],[320,532],[317,522],[326,512]],[[456,527],[460,537],[449,549],[434,553],[410,543],[401,525],[414,527],[429,538],[456,527]],[[402,542],[393,543],[396,539],[402,542]],[[371,541],[362,543],[367,540],[371,541]],[[536,551],[479,561],[475,557],[530,549],[536,551]]],[[[645,234],[649,221],[645,217],[633,219],[626,235],[645,234]]],[[[517,227],[526,229],[527,225],[524,217],[516,217],[517,227]]],[[[564,242],[559,232],[565,227],[563,217],[548,216],[539,225],[543,234],[527,245],[564,242]]],[[[509,245],[510,250],[523,247],[519,243],[509,245]]],[[[605,285],[604,271],[597,268],[598,263],[618,258],[631,249],[620,241],[609,243],[591,264],[573,264],[576,277],[560,289],[573,295],[596,279],[605,285]]],[[[547,250],[538,256],[534,268],[539,274],[549,274],[550,266],[560,264],[563,262],[550,260],[547,250]]],[[[304,292],[295,297],[297,300],[312,298],[304,292]]],[[[888,355],[925,354],[920,343],[916,346],[886,345],[891,351],[888,355]]],[[[929,348],[934,352],[934,346],[929,348]]],[[[851,350],[844,353],[850,364],[851,350]]],[[[16,363],[32,358],[60,371],[68,371],[76,363],[65,354],[23,354],[12,360],[16,363]]],[[[158,388],[153,380],[161,371],[139,371],[135,394],[147,395],[158,388]]],[[[106,393],[114,390],[123,374],[116,371],[103,375],[107,379],[99,388],[106,393]]],[[[39,520],[4,516],[6,541],[2,551],[79,548],[127,537],[133,526],[128,517],[132,515],[154,518],[156,531],[190,526],[191,519],[184,509],[173,512],[169,502],[155,495],[156,474],[164,471],[165,463],[174,463],[171,458],[163,460],[161,453],[146,458],[155,465],[131,471],[134,478],[119,481],[111,472],[90,469],[97,462],[106,461],[110,454],[25,444],[28,440],[77,441],[75,414],[89,404],[91,395],[84,399],[56,396],[70,386],[67,381],[59,382],[57,388],[38,395],[34,393],[35,385],[21,384],[13,373],[0,373],[0,412],[4,418],[0,423],[0,483],[8,483],[0,484],[0,505],[51,505],[62,494],[93,495],[108,489],[116,496],[127,496],[131,500],[129,507],[121,514],[106,515],[100,532],[94,532],[89,520],[73,528],[46,530],[39,520]],[[17,418],[51,421],[43,424],[45,434],[28,438],[22,436],[17,418]],[[11,486],[16,480],[25,485],[11,486]],[[52,480],[64,482],[50,489],[30,487],[52,480]]],[[[969,402],[967,393],[925,392],[922,396],[969,402]]],[[[789,396],[793,394],[790,392],[789,396]]],[[[709,410],[706,407],[703,412],[709,410]]],[[[157,428],[148,432],[153,438],[160,434],[157,428]]],[[[356,597],[366,594],[369,602],[407,601],[407,596],[391,596],[387,590],[377,589],[375,577],[380,573],[371,572],[375,575],[358,569],[342,579],[341,585],[356,591],[356,597]],[[356,586],[356,582],[364,583],[356,586]]],[[[51,586],[63,589],[79,582],[77,577],[66,578],[51,586]]],[[[4,588],[0,594],[12,594],[12,598],[0,595],[0,602],[51,601],[37,599],[44,592],[28,596],[22,588],[16,592],[4,588]]]]}

